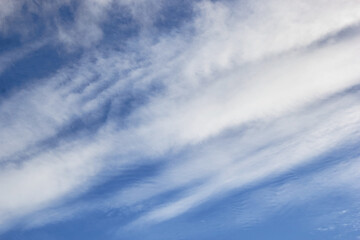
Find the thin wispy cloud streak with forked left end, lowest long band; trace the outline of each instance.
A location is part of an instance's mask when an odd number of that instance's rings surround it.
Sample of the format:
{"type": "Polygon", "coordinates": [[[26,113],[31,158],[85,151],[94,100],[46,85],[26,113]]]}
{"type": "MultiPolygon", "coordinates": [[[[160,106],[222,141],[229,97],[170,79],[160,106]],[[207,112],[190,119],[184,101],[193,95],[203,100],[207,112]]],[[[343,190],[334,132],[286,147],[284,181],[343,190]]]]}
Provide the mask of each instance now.
{"type": "MultiPolygon", "coordinates": [[[[259,129],[256,125],[263,124],[257,123],[253,126],[255,130],[241,132],[231,140],[220,138],[215,144],[200,148],[199,153],[195,150],[195,155],[190,155],[188,161],[171,166],[152,184],[124,191],[116,201],[129,204],[127,200],[130,199],[130,203],[137,203],[196,183],[199,179],[205,181],[188,190],[179,200],[155,207],[136,223],[158,222],[176,217],[208,198],[242,189],[311,162],[342,142],[358,139],[358,134],[353,135],[360,127],[357,100],[337,100],[327,106],[284,116],[259,129]],[[334,109],[337,109],[335,113],[334,109]]],[[[351,176],[354,174],[349,175],[349,181],[354,180],[351,176]]]]}

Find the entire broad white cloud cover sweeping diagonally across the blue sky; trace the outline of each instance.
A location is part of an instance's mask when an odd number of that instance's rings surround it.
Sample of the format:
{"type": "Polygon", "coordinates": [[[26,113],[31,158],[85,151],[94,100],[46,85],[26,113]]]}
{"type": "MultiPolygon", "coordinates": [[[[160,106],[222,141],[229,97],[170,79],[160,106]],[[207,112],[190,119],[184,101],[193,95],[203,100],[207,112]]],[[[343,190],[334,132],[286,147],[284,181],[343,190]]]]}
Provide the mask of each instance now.
{"type": "MultiPolygon", "coordinates": [[[[93,46],[102,37],[101,22],[112,4],[83,2],[74,25],[58,26],[60,41],[93,46]]],[[[152,1],[119,4],[144,27],[161,7],[152,1]],[[149,5],[144,16],[142,9],[149,5]]],[[[203,1],[196,4],[194,22],[156,43],[145,34],[128,43],[132,50],[126,52],[89,50],[43,85],[5,99],[0,109],[0,156],[5,162],[0,221],[6,225],[78,189],[85,191],[113,164],[141,164],[144,157],[191,150],[186,161],[171,165],[154,184],[141,184],[120,193],[116,202],[109,200],[115,207],[132,205],[206,180],[142,218],[165,220],[222,191],[304,164],[357,131],[355,97],[314,113],[303,110],[359,83],[359,37],[341,37],[341,30],[360,19],[356,1],[244,4],[203,1]],[[314,45],[334,33],[339,34],[334,42],[314,45]],[[150,92],[153,84],[161,91],[150,92]],[[112,101],[110,112],[116,111],[127,95],[136,97],[141,91],[150,92],[148,101],[129,116],[110,116],[96,133],[59,139],[54,149],[41,145],[75,119],[86,121],[89,114],[101,112],[105,102],[112,101]],[[250,126],[245,135],[226,141],[219,137],[244,126],[250,126]],[[220,142],[202,145],[209,139],[220,142]],[[266,148],[256,152],[259,147],[266,148]],[[193,155],[194,148],[200,152],[193,155]],[[25,162],[11,161],[21,156],[25,162]],[[109,162],[109,156],[116,161],[109,162]]]]}

